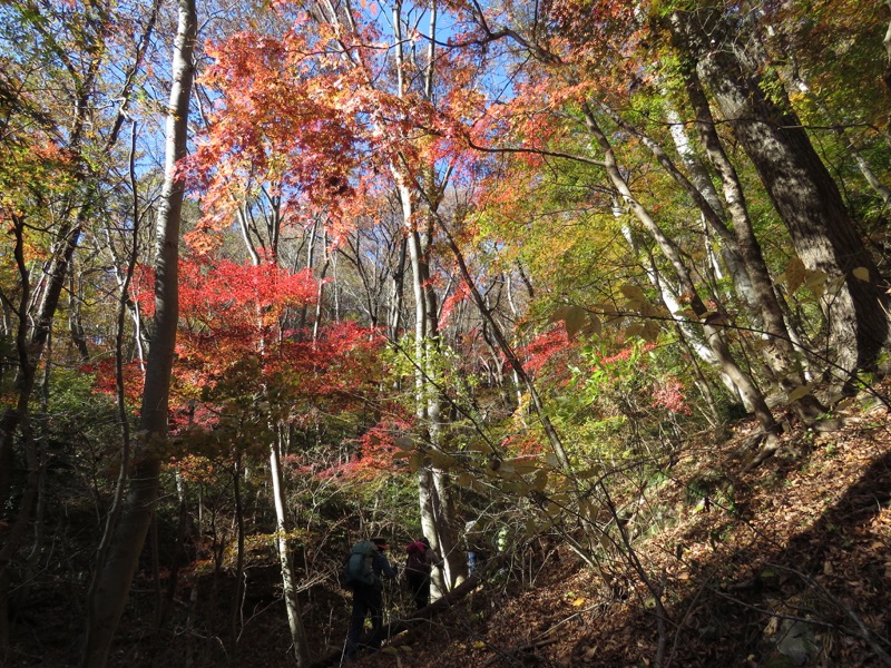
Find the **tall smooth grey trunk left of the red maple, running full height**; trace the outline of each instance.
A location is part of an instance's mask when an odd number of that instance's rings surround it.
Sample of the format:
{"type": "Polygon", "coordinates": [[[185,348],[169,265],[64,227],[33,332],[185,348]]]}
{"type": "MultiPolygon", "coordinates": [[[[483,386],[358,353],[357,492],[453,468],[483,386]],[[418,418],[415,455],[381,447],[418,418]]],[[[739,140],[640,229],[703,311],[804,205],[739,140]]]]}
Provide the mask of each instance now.
{"type": "Polygon", "coordinates": [[[81,665],[89,668],[101,668],[108,660],[158,494],[161,463],[158,445],[167,438],[170,375],[179,315],[178,245],[184,185],[176,178],[175,169],[176,161],[186,155],[196,31],[195,0],[179,0],[167,109],[164,187],[157,224],[155,330],[143,390],[140,442],[120,520],[112,528],[107,558],[97,564],[88,595],[81,665]]]}

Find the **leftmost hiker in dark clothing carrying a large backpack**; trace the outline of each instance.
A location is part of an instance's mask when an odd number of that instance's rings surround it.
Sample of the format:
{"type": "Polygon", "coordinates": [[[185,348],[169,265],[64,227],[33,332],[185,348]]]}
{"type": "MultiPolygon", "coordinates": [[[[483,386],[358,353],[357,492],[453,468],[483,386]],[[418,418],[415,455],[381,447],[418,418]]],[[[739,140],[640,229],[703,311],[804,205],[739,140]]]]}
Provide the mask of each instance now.
{"type": "Polygon", "coordinates": [[[389,549],[383,538],[360,541],[346,562],[345,584],[353,591],[353,612],[350,616],[350,630],[346,632],[347,659],[355,657],[359,639],[365,626],[365,617],[371,615],[371,638],[368,646],[380,649],[383,640],[383,581],[382,577],[395,578],[396,572],[386,560],[384,551],[389,549]]]}

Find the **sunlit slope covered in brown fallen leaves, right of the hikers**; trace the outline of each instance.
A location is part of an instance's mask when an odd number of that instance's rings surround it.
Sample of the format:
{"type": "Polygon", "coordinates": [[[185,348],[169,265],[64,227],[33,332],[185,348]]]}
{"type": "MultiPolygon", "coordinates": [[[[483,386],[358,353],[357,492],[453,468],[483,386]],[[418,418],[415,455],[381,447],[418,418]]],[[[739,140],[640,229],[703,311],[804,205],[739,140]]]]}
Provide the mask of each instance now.
{"type": "Polygon", "coordinates": [[[789,430],[757,466],[750,423],[687,444],[628,525],[639,570],[627,552],[600,573],[562,547],[518,556],[521,581],[495,578],[351,665],[891,665],[891,423],[869,397],[840,416],[789,430]]]}

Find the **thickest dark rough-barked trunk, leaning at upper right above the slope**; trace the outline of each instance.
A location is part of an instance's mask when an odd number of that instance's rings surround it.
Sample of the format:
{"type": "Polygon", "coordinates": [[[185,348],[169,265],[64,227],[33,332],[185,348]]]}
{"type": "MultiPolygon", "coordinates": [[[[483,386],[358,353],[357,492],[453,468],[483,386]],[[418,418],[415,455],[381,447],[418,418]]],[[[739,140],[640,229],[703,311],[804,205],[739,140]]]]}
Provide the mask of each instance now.
{"type": "Polygon", "coordinates": [[[824,272],[830,278],[820,303],[829,323],[834,364],[844,376],[859,367],[874,367],[889,335],[888,296],[807,134],[787,100],[765,94],[763,77],[737,51],[744,48],[744,40],[724,18],[702,11],[675,12],[670,20],[676,43],[694,59],[755,166],[799,257],[807,269],[824,272]],[[841,282],[832,289],[836,276],[841,282]]]}

